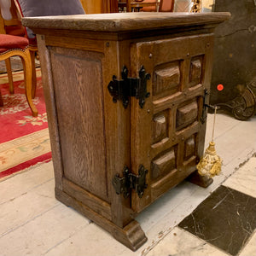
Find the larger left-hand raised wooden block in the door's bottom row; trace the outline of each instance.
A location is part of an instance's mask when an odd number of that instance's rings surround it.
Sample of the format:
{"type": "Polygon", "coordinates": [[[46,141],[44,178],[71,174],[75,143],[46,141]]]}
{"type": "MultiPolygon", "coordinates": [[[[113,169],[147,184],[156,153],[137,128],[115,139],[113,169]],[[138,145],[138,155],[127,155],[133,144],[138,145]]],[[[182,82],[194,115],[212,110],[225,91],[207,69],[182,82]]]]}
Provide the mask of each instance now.
{"type": "Polygon", "coordinates": [[[176,167],[176,158],[174,149],[167,151],[165,154],[156,158],[152,162],[152,178],[163,176],[164,174],[171,172],[176,167]]]}

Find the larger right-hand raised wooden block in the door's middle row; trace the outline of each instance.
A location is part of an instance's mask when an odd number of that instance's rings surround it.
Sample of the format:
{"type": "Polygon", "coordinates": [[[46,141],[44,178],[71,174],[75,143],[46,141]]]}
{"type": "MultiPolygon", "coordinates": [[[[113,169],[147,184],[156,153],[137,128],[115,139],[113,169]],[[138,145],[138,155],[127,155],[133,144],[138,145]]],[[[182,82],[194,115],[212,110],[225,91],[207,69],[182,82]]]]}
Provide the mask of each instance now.
{"type": "Polygon", "coordinates": [[[183,107],[177,108],[176,127],[177,130],[192,124],[198,115],[197,102],[190,102],[183,107]]]}

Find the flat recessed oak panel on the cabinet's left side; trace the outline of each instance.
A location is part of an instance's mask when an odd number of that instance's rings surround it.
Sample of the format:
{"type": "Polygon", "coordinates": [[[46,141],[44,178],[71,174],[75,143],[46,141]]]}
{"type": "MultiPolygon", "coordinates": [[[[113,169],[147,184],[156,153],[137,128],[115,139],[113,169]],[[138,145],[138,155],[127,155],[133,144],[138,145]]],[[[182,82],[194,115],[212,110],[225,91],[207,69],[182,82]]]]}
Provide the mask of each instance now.
{"type": "Polygon", "coordinates": [[[108,201],[102,54],[49,48],[64,177],[108,201]]]}

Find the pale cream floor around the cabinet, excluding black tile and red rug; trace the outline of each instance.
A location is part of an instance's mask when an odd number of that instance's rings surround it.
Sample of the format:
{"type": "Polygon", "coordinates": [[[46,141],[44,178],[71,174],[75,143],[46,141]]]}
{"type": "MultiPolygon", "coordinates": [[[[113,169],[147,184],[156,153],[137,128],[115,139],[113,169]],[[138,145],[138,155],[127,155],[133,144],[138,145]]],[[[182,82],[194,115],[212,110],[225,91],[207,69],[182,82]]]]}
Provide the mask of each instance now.
{"type": "MultiPolygon", "coordinates": [[[[206,144],[212,135],[208,115],[206,144]]],[[[177,224],[224,183],[255,195],[256,116],[241,122],[218,114],[215,132],[221,175],[207,189],[183,182],[138,217],[148,241],[131,252],[105,230],[55,200],[52,163],[0,182],[0,255],[227,255],[177,224]]],[[[239,255],[256,255],[255,232],[239,255]]]]}

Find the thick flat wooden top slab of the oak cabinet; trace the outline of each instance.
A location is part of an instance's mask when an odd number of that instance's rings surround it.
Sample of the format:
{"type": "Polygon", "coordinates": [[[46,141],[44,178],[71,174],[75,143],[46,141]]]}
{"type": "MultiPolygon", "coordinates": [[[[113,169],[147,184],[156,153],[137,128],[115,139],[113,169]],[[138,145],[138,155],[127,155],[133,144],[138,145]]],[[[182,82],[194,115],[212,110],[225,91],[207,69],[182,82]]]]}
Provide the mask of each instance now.
{"type": "Polygon", "coordinates": [[[23,18],[31,28],[67,29],[94,32],[127,32],[165,27],[218,24],[230,19],[230,13],[115,13],[23,18]]]}

